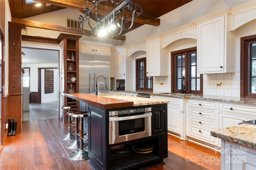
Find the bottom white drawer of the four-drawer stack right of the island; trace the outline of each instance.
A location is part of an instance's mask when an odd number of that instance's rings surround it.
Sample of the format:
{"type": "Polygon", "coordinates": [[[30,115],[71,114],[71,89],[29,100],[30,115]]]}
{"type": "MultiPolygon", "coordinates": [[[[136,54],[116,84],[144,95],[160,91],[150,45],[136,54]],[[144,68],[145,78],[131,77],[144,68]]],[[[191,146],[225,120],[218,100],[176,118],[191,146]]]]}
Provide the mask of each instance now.
{"type": "Polygon", "coordinates": [[[214,143],[215,139],[211,136],[211,132],[208,130],[200,129],[194,125],[189,125],[189,135],[191,137],[196,137],[197,139],[204,139],[214,143]]]}

